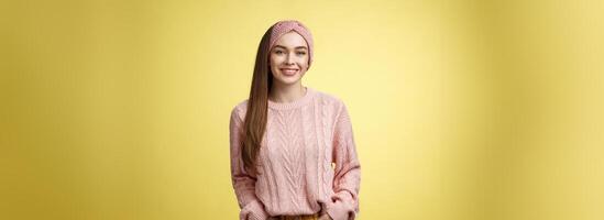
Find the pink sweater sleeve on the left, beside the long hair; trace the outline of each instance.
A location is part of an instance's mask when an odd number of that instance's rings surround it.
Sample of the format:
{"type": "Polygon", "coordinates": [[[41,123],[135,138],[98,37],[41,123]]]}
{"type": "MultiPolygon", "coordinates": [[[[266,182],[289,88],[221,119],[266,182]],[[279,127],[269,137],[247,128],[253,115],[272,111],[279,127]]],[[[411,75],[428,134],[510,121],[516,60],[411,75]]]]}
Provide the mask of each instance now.
{"type": "Polygon", "coordinates": [[[255,195],[256,177],[248,174],[243,168],[241,160],[241,143],[243,120],[235,107],[231,112],[230,130],[230,157],[231,157],[231,179],[234,193],[237,195],[240,220],[266,220],[266,213],[263,204],[255,195]]]}

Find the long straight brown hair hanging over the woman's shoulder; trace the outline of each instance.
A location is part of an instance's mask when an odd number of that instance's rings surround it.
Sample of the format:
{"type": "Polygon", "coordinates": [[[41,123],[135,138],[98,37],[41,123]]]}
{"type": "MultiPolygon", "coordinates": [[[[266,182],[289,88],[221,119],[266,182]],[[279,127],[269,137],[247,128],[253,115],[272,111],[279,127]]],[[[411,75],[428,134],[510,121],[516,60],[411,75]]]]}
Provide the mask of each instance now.
{"type": "Polygon", "coordinates": [[[268,92],[273,85],[273,74],[268,66],[271,53],[270,40],[273,28],[270,28],[257,47],[250,99],[248,100],[248,112],[243,124],[243,143],[241,144],[241,157],[245,169],[252,174],[256,173],[256,158],[260,152],[262,139],[266,130],[268,114],[268,92]]]}

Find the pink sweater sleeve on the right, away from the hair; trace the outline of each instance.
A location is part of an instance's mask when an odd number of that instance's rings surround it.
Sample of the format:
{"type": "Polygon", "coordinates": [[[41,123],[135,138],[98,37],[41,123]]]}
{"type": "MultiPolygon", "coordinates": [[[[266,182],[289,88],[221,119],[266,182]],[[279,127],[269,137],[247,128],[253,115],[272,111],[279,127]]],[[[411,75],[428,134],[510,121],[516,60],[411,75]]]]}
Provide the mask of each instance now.
{"type": "Polygon", "coordinates": [[[352,135],[347,107],[339,107],[333,131],[332,161],[336,163],[333,193],[327,212],[333,220],[352,220],[359,213],[361,164],[352,135]]]}

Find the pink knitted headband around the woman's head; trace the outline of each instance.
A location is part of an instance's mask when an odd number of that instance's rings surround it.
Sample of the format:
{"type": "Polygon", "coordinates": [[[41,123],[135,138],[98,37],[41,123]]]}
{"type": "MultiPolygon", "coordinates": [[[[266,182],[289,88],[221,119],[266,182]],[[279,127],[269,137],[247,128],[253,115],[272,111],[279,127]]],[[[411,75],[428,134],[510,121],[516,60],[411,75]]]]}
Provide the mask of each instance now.
{"type": "Polygon", "coordinates": [[[275,43],[281,36],[290,31],[295,31],[300,34],[306,41],[306,44],[308,44],[308,67],[310,67],[310,64],[312,63],[312,35],[310,34],[310,31],[308,31],[303,23],[296,20],[279,21],[271,28],[273,28],[273,31],[271,32],[268,50],[273,50],[273,46],[275,46],[275,43]]]}

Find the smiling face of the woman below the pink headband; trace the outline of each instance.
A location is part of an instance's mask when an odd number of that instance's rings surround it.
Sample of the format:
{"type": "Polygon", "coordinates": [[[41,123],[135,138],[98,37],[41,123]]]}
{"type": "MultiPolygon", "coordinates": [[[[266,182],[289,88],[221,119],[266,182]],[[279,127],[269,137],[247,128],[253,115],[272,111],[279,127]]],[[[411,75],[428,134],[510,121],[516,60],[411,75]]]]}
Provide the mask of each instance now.
{"type": "Polygon", "coordinates": [[[298,84],[308,70],[308,45],[304,37],[296,32],[284,34],[271,50],[268,65],[273,84],[298,84]]]}

